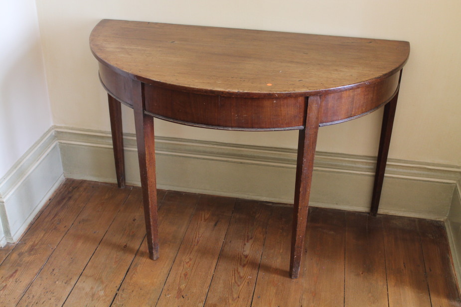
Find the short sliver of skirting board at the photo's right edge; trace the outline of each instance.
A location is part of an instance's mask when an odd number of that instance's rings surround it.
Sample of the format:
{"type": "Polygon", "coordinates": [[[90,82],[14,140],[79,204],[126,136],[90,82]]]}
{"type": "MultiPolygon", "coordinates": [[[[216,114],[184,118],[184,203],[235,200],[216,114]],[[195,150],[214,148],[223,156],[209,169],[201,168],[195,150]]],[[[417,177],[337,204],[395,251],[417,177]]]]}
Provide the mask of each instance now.
{"type": "Polygon", "coordinates": [[[458,181],[453,193],[452,207],[446,220],[448,239],[452,251],[453,264],[461,286],[461,180],[458,181]]]}

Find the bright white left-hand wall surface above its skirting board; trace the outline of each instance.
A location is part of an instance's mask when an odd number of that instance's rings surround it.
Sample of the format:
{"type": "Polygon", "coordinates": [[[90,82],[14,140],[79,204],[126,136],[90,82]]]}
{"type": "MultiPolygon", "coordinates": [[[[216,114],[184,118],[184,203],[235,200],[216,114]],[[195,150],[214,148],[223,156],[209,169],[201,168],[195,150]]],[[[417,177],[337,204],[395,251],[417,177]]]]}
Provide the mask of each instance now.
{"type": "Polygon", "coordinates": [[[34,0],[0,2],[0,181],[50,127],[34,0]]]}

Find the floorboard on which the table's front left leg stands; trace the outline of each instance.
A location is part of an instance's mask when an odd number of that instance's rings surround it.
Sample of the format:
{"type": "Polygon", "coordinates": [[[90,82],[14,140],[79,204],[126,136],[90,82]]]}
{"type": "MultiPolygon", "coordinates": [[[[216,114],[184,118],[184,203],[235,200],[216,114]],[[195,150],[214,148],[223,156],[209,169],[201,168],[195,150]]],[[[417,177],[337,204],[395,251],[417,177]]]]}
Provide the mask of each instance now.
{"type": "Polygon", "coordinates": [[[136,255],[112,307],[155,306],[183,240],[199,195],[169,191],[158,210],[162,256],[149,258],[147,241],[136,255]]]}

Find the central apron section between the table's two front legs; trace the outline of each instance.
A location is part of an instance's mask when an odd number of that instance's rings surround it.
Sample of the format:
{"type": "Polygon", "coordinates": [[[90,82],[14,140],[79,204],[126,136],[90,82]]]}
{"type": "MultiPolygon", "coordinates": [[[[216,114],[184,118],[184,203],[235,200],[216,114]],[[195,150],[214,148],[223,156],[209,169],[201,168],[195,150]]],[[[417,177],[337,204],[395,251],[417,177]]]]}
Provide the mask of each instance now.
{"type": "Polygon", "coordinates": [[[288,130],[305,124],[304,97],[235,98],[146,85],[146,112],[164,120],[232,130],[288,130]]]}

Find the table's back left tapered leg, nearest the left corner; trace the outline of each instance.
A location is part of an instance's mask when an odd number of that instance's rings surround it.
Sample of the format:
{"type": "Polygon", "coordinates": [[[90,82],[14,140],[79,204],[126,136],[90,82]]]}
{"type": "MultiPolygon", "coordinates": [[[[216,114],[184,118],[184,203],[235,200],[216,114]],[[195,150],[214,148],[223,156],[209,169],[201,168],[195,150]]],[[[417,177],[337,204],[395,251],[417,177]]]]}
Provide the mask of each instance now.
{"type": "Polygon", "coordinates": [[[125,187],[125,155],[123,153],[122,105],[107,94],[111,119],[112,145],[114,147],[115,172],[120,188],[125,187]]]}

